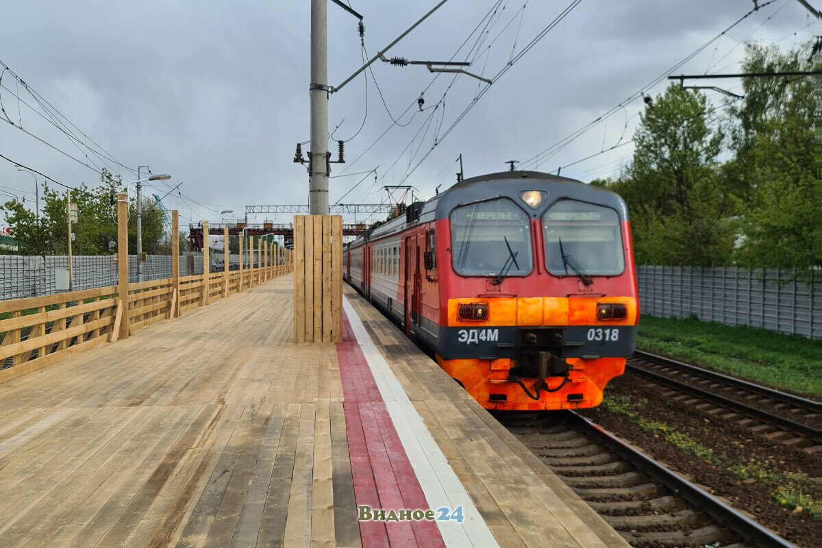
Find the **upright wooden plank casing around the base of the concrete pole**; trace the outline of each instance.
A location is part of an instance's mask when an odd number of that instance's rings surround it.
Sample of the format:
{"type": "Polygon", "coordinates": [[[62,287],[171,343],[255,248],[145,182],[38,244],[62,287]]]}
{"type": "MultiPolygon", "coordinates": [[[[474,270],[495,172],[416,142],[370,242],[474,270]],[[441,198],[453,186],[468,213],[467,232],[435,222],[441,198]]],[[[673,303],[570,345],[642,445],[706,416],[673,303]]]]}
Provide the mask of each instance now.
{"type": "Polygon", "coordinates": [[[343,340],[343,218],[294,216],[294,342],[343,340]]]}

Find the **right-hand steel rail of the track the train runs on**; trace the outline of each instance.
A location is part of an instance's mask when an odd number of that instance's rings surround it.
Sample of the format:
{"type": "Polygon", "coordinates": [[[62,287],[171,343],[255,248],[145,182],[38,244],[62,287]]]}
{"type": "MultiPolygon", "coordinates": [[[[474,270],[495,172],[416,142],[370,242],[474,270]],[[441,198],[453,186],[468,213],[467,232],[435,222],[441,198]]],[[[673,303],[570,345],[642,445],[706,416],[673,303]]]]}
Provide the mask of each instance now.
{"type": "Polygon", "coordinates": [[[664,486],[667,486],[667,488],[673,490],[677,495],[694,504],[696,508],[709,514],[713,519],[725,524],[745,541],[760,546],[760,548],[797,548],[796,545],[771,532],[768,528],[747,518],[737,509],[723,503],[713,495],[710,495],[690,481],[679,476],[677,473],[672,472],[672,470],[641,453],[638,449],[626,444],[617,438],[617,436],[604,430],[602,426],[589,421],[587,418],[575,412],[569,411],[568,413],[575,421],[578,421],[580,425],[589,431],[593,431],[599,440],[602,440],[609,448],[620,454],[622,458],[626,458],[626,460],[630,461],[630,463],[642,472],[653,477],[653,479],[659,481],[664,486]]]}

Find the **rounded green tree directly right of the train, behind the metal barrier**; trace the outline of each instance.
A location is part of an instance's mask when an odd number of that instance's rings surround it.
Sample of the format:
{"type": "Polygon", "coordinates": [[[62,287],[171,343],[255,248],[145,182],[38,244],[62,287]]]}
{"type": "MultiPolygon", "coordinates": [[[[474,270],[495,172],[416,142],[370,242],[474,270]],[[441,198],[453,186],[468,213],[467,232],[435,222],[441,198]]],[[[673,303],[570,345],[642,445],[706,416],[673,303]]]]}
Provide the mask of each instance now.
{"type": "Polygon", "coordinates": [[[704,94],[669,86],[642,114],[634,140],[626,173],[608,186],[628,203],[637,262],[727,262],[732,203],[718,175],[723,134],[704,94]]]}

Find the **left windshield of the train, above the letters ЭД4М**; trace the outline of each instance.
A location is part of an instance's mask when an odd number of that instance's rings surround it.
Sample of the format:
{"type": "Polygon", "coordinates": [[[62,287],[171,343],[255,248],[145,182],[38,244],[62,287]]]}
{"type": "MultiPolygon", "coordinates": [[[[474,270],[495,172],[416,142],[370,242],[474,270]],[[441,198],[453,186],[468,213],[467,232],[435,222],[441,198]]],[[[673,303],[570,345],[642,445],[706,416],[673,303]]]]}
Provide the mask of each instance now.
{"type": "Polygon", "coordinates": [[[464,276],[523,276],[533,269],[528,214],[498,198],[454,208],[454,270],[464,276]]]}

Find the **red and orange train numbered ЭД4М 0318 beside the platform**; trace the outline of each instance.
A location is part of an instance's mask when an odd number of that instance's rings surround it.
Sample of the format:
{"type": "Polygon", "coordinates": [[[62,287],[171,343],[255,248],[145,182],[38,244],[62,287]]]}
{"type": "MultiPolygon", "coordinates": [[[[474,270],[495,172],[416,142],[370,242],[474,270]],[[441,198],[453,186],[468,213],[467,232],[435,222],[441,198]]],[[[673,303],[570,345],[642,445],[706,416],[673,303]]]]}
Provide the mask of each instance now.
{"type": "Polygon", "coordinates": [[[347,244],[344,278],[488,409],[593,407],[634,351],[625,202],[566,177],[465,179],[347,244]]]}

